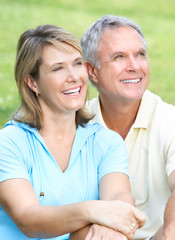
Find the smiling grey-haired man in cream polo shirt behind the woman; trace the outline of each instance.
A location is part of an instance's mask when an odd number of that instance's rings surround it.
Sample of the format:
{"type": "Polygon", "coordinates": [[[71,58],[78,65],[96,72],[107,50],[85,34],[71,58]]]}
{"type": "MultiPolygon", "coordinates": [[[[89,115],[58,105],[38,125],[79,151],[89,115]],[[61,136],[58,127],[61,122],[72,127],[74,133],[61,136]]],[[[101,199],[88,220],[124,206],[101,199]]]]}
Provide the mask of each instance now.
{"type": "Polygon", "coordinates": [[[130,19],[107,15],[90,26],[81,44],[89,77],[99,92],[88,105],[95,114],[93,122],[125,140],[132,194],[146,215],[134,239],[174,239],[170,209],[175,200],[175,107],[146,90],[150,73],[143,33],[130,19]]]}

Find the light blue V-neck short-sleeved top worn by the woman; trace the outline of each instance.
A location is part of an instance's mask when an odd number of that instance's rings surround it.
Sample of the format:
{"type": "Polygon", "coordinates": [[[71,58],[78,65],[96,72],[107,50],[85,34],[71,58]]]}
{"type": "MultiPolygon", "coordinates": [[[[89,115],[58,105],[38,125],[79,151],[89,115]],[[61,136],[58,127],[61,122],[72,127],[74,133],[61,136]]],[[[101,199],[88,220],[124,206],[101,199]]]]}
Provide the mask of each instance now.
{"type": "MultiPolygon", "coordinates": [[[[13,121],[0,130],[0,182],[12,178],[27,179],[44,206],[99,199],[100,179],[111,172],[128,174],[127,171],[124,141],[116,132],[99,124],[77,128],[65,172],[53,159],[37,129],[13,121]],[[41,192],[44,196],[40,196],[41,192]]],[[[68,238],[69,234],[52,239],[68,238]]],[[[1,206],[0,239],[29,239],[1,206]]]]}

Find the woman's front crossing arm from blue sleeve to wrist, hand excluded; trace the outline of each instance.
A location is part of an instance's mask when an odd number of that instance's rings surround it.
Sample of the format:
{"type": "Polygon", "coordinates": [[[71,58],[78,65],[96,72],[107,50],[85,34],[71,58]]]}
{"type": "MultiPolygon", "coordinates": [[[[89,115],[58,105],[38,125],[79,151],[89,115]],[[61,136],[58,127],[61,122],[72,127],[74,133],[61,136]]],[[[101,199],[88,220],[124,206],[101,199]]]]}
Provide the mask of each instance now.
{"type": "Polygon", "coordinates": [[[87,203],[41,206],[30,182],[24,179],[0,183],[0,205],[29,237],[59,236],[86,226],[90,221],[87,203]]]}

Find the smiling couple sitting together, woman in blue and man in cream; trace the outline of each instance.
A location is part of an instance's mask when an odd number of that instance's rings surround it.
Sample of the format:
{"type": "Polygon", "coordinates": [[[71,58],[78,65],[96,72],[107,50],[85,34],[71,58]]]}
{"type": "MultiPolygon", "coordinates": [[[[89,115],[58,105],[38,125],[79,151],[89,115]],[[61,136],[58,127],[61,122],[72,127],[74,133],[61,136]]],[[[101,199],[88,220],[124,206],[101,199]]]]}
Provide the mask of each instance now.
{"type": "Polygon", "coordinates": [[[175,108],[147,90],[142,30],[106,15],[81,46],[53,25],[19,38],[21,105],[0,131],[0,238],[174,239],[175,108]],[[88,76],[99,94],[86,102],[88,76]]]}

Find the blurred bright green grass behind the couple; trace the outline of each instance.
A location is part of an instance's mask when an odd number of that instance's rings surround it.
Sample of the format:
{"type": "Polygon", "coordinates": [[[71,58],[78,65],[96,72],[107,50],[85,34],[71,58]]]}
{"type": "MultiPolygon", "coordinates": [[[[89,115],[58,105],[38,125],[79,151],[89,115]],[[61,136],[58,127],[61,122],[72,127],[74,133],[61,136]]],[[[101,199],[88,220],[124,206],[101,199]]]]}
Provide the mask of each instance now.
{"type": "MultiPolygon", "coordinates": [[[[13,68],[20,34],[49,23],[80,39],[105,14],[129,17],[142,27],[149,53],[149,89],[175,104],[174,0],[0,0],[0,128],[18,106],[13,68]]],[[[90,86],[90,97],[96,94],[90,86]]]]}

